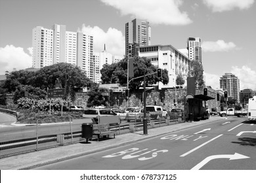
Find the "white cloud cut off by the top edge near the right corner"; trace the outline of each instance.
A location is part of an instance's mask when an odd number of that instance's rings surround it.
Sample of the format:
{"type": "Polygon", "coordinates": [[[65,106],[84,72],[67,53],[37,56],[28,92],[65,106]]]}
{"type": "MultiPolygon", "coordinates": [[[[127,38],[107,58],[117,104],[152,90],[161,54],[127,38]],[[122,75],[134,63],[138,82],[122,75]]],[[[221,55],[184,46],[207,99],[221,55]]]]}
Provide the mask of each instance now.
{"type": "Polygon", "coordinates": [[[254,0],[203,0],[203,3],[213,12],[223,12],[234,8],[247,9],[253,5],[254,0]]]}

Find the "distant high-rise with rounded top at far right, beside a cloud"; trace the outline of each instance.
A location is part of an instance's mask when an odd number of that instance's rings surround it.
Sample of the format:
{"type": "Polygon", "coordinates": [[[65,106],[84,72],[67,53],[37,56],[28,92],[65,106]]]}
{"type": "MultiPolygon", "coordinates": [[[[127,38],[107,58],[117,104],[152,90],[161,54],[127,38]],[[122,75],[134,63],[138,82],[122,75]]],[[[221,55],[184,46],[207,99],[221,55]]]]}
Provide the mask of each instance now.
{"type": "Polygon", "coordinates": [[[228,92],[228,97],[236,99],[240,103],[240,82],[237,76],[232,73],[225,73],[220,79],[220,88],[228,92]]]}

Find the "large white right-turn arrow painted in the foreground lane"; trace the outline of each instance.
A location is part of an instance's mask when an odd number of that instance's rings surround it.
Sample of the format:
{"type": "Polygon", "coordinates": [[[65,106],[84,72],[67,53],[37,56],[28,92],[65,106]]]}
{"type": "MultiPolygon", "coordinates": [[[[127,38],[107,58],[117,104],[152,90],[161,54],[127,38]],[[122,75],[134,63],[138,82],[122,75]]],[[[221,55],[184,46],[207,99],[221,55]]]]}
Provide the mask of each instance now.
{"type": "Polygon", "coordinates": [[[194,166],[192,170],[199,170],[201,169],[206,163],[211,161],[212,159],[219,159],[219,158],[229,158],[229,160],[234,160],[234,159],[245,159],[249,158],[248,156],[244,156],[242,154],[220,154],[220,155],[213,155],[213,156],[208,156],[207,158],[203,159],[198,165],[194,166]]]}

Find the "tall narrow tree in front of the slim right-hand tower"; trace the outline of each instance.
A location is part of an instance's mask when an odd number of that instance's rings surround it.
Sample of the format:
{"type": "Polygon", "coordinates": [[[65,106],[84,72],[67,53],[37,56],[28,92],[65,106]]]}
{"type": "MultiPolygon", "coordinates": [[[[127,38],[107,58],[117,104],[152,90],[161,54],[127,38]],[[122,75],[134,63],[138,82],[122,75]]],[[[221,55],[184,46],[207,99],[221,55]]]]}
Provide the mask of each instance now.
{"type": "Polygon", "coordinates": [[[205,86],[203,81],[203,65],[198,61],[190,61],[188,66],[188,76],[195,77],[196,88],[203,89],[205,86]]]}

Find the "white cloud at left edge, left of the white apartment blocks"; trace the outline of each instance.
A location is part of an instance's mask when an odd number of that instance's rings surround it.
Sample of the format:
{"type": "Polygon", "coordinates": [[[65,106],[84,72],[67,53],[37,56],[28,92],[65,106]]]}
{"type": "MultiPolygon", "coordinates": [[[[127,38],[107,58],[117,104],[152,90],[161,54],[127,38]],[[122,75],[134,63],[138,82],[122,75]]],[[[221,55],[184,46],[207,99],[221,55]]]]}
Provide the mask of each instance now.
{"type": "MultiPolygon", "coordinates": [[[[31,51],[31,48],[28,48],[31,51]]],[[[5,48],[0,48],[0,75],[5,74],[5,71],[13,71],[27,69],[32,67],[32,56],[26,54],[23,48],[7,45],[5,48]]]]}

